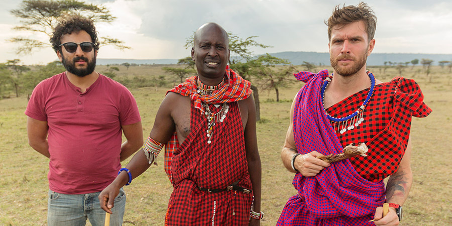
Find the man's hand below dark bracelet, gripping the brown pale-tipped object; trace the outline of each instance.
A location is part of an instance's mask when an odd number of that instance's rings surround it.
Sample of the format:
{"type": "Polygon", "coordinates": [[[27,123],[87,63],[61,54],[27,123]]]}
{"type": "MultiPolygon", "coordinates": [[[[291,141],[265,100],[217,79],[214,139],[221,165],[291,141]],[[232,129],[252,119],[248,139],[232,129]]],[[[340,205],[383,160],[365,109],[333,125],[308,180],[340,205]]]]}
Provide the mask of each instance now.
{"type": "Polygon", "coordinates": [[[304,155],[299,155],[295,158],[293,165],[295,169],[301,173],[301,175],[305,177],[313,177],[325,167],[331,165],[323,160],[317,159],[317,156],[322,156],[322,154],[313,151],[304,155]]]}

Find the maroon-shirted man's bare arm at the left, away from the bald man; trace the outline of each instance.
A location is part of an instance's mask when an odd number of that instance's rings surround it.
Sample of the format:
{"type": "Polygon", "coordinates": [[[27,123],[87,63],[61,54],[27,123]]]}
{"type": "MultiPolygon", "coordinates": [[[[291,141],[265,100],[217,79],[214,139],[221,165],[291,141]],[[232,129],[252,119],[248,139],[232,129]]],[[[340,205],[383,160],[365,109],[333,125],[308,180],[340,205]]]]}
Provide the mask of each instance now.
{"type": "Polygon", "coordinates": [[[47,132],[49,127],[46,121],[39,121],[28,117],[27,134],[28,144],[37,152],[50,158],[49,143],[47,142],[47,132]]]}

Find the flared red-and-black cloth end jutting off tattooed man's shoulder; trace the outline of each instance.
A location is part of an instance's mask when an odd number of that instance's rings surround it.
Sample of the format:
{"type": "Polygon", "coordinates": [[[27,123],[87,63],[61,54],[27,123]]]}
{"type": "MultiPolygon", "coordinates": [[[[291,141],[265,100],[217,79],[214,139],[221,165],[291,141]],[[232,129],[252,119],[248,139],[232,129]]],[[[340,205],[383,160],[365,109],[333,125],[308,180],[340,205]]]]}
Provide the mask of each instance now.
{"type": "Polygon", "coordinates": [[[396,83],[394,98],[408,108],[412,116],[424,118],[430,115],[431,109],[423,102],[424,95],[414,80],[395,77],[391,81],[396,83]]]}

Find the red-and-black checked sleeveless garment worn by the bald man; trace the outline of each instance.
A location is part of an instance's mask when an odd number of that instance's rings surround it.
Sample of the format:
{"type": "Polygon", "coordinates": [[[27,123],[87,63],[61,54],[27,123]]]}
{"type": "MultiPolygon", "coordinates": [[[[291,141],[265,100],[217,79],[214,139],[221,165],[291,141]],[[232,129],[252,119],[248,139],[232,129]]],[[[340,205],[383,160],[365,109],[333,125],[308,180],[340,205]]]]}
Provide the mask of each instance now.
{"type": "Polygon", "coordinates": [[[229,105],[224,121],[213,127],[212,143],[207,144],[207,119],[192,101],[190,134],[172,157],[174,190],[166,225],[248,225],[251,193],[209,193],[198,188],[224,189],[240,180],[239,186],[252,189],[239,105],[229,105]]]}

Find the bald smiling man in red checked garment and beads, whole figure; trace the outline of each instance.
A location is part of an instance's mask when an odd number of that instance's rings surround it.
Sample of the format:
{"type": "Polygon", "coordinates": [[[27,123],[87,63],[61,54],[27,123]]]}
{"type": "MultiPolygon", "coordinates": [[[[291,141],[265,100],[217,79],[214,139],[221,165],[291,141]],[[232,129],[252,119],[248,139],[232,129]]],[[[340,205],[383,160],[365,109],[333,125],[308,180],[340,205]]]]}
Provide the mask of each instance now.
{"type": "Polygon", "coordinates": [[[228,34],[202,25],[191,49],[197,76],[168,91],[143,147],[99,195],[110,212],[119,189],[143,173],[166,144],[173,192],[167,225],[259,225],[261,162],[250,82],[228,66],[228,34]],[[251,220],[250,220],[251,217],[251,220]]]}

